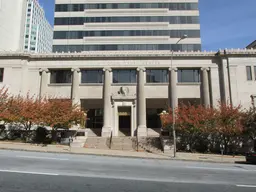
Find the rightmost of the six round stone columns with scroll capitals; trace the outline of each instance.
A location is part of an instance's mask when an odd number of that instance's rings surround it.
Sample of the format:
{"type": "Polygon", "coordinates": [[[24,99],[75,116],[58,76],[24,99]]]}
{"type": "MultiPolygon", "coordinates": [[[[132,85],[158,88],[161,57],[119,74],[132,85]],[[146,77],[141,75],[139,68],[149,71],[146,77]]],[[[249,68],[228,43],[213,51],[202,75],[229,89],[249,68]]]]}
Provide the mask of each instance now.
{"type": "Polygon", "coordinates": [[[209,91],[209,79],[208,79],[208,71],[209,68],[202,68],[202,76],[201,76],[201,91],[202,91],[202,104],[205,107],[210,106],[210,91],[209,91]]]}

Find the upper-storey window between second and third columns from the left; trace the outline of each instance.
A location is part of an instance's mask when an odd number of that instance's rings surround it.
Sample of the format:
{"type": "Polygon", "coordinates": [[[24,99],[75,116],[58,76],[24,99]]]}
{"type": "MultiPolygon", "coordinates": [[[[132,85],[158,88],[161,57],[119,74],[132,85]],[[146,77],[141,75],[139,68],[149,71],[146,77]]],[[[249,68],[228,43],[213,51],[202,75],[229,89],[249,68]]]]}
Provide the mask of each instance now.
{"type": "Polygon", "coordinates": [[[103,82],[103,70],[81,70],[82,83],[102,83],[103,82]]]}

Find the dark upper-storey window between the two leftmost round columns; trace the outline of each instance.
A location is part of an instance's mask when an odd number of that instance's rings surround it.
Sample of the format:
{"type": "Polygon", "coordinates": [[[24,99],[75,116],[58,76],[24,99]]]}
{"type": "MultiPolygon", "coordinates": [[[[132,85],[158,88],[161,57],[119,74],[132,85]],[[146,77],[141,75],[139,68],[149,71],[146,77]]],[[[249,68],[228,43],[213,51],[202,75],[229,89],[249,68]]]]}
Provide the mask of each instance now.
{"type": "Polygon", "coordinates": [[[71,70],[52,70],[50,83],[71,83],[71,70]]]}

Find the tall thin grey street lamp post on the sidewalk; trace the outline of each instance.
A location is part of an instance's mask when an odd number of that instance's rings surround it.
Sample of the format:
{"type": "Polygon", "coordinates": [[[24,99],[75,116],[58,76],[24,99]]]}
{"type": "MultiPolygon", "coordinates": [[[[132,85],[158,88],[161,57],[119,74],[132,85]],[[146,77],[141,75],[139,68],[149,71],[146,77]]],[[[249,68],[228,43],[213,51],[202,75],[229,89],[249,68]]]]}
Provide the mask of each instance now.
{"type": "MultiPolygon", "coordinates": [[[[177,42],[175,45],[177,45],[180,41],[182,41],[183,39],[186,39],[188,36],[187,35],[183,35],[177,42]]],[[[173,68],[173,49],[172,51],[172,56],[171,56],[171,68],[173,68]]],[[[172,105],[172,134],[173,134],[173,157],[176,157],[176,131],[175,131],[175,102],[174,102],[174,98],[172,97],[172,101],[170,103],[172,105]]]]}

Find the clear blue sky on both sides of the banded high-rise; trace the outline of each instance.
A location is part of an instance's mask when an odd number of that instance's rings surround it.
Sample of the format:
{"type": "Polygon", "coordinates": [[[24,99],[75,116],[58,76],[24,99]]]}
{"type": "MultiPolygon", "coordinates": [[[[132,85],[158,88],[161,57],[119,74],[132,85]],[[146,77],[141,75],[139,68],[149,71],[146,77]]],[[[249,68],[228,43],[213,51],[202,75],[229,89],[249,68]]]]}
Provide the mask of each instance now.
{"type": "MultiPolygon", "coordinates": [[[[39,0],[53,25],[55,0],[39,0]]],[[[256,0],[199,0],[202,50],[245,48],[256,40],[256,0]]]]}

